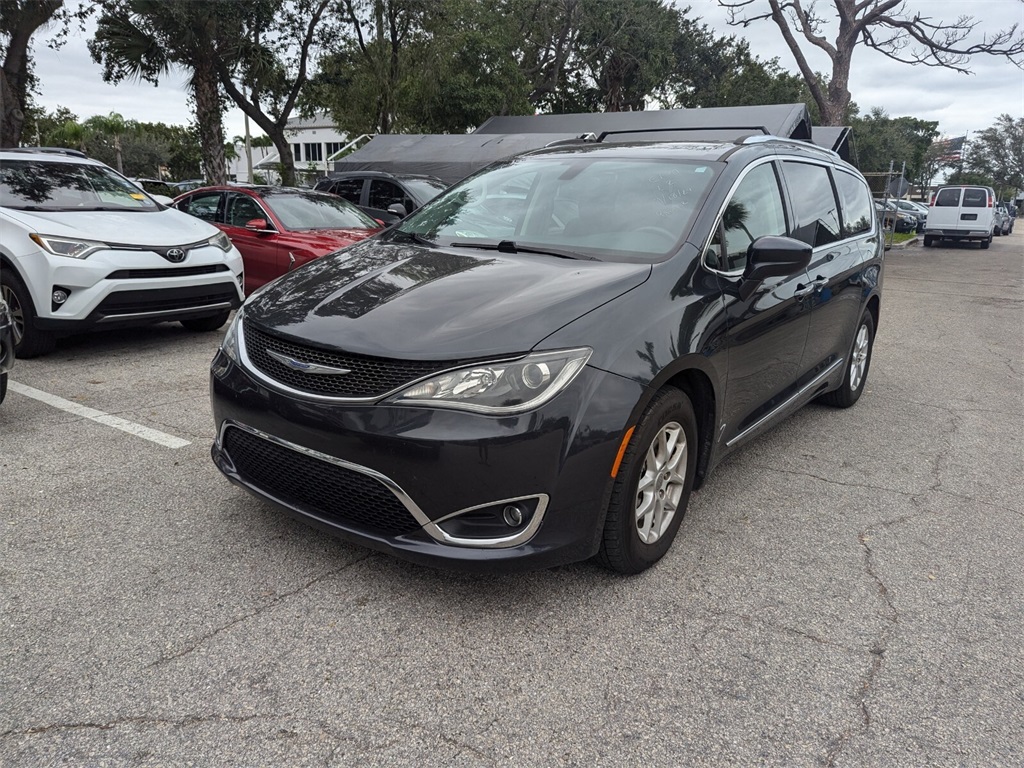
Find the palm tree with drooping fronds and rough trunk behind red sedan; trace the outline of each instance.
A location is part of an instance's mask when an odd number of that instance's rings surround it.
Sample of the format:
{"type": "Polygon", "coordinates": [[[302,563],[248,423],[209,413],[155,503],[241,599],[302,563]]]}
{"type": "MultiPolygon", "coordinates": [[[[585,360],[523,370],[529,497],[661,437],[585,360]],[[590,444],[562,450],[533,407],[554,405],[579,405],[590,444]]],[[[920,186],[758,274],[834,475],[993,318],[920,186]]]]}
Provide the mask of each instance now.
{"type": "Polygon", "coordinates": [[[224,14],[218,3],[193,0],[103,0],[89,51],[103,65],[103,79],[129,78],[157,85],[172,68],[189,73],[196,100],[203,170],[214,183],[227,177],[216,61],[224,14]]]}

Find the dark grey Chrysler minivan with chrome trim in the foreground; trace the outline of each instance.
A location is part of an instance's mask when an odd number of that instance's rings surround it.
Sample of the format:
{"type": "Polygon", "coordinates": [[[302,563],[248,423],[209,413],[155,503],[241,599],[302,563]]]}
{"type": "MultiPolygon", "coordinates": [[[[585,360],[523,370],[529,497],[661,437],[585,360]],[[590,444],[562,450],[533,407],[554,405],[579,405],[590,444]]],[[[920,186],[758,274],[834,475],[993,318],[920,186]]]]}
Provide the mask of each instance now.
{"type": "Polygon", "coordinates": [[[251,296],[213,459],[411,560],[637,572],[724,457],[861,396],[883,254],[864,178],[800,141],[519,156],[251,296]]]}

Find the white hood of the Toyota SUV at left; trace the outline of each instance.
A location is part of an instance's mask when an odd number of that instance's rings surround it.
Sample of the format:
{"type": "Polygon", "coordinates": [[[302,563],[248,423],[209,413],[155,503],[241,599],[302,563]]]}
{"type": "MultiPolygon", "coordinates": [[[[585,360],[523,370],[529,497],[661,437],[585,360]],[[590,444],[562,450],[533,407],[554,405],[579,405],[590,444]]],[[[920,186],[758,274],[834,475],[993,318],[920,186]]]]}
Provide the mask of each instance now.
{"type": "Polygon", "coordinates": [[[130,246],[183,246],[217,233],[209,222],[173,208],[136,211],[18,211],[4,213],[39,234],[130,246]]]}

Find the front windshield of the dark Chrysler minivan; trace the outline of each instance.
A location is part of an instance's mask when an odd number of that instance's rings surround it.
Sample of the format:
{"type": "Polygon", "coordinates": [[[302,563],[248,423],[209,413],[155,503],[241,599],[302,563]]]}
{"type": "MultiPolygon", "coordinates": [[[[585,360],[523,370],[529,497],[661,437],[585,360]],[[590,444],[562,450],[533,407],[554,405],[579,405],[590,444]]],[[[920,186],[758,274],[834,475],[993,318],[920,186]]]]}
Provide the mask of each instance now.
{"type": "Polygon", "coordinates": [[[397,231],[450,246],[655,261],[689,230],[718,170],[588,153],[515,158],[451,188],[397,231]]]}

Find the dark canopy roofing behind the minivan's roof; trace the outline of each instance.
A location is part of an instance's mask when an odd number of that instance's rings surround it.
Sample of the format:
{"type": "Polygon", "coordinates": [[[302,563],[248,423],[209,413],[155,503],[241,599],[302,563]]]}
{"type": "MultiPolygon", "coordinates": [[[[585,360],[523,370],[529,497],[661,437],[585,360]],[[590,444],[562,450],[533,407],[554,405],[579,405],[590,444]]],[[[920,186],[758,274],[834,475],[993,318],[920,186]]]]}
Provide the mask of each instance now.
{"type": "Polygon", "coordinates": [[[812,131],[807,106],[798,103],[499,116],[473,133],[381,134],[335,161],[334,170],[424,173],[455,183],[496,161],[588,134],[603,137],[605,141],[694,138],[732,141],[748,135],[771,134],[814,141],[837,150],[844,159],[849,154],[849,128],[812,131]],[[833,135],[831,131],[841,133],[833,135]]]}

